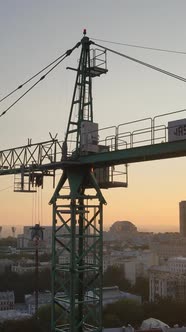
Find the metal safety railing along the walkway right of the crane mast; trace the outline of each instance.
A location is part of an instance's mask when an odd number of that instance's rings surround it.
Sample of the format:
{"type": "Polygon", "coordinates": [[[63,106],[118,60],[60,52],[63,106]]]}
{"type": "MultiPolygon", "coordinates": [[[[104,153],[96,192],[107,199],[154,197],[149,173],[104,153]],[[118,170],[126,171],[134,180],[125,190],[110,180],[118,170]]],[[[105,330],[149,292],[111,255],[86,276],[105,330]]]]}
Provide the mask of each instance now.
{"type": "Polygon", "coordinates": [[[114,151],[168,142],[170,129],[168,122],[184,119],[184,117],[186,117],[186,109],[102,128],[98,131],[98,144],[105,145],[109,151],[114,151]]]}

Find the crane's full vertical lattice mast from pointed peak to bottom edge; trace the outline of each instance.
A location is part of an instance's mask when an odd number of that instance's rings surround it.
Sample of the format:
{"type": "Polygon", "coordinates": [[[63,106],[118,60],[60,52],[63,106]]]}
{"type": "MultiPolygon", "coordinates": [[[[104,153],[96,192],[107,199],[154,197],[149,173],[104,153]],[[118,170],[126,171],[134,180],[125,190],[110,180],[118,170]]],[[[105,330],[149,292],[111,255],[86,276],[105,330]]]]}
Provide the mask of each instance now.
{"type": "Polygon", "coordinates": [[[88,153],[84,148],[82,128],[87,125],[90,128],[93,124],[92,76],[97,76],[95,68],[91,67],[89,38],[84,35],[81,43],[63,159],[68,160],[70,143],[74,151],[51,200],[52,331],[61,332],[102,329],[102,215],[105,200],[91,166],[74,163],[74,159],[88,153]],[[73,139],[69,138],[71,134],[73,139]],[[63,189],[67,183],[66,193],[63,189]],[[87,188],[92,188],[91,194],[87,193],[87,188]],[[56,310],[59,310],[59,316],[56,310]]]}

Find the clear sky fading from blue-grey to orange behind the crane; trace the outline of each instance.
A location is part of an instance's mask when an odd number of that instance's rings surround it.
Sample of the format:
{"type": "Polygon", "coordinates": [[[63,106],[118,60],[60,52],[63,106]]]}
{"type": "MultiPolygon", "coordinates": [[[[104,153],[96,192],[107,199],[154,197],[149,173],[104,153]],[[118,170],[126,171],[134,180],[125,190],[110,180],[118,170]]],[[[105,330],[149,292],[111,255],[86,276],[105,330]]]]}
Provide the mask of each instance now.
{"type": "MultiPolygon", "coordinates": [[[[73,47],[84,28],[90,38],[186,52],[184,0],[6,0],[0,1],[0,97],[73,47]]],[[[186,77],[186,55],[104,45],[186,77]]],[[[0,118],[0,150],[39,142],[49,131],[63,139],[79,53],[0,118]]],[[[94,82],[94,115],[99,127],[186,108],[183,82],[108,54],[106,76],[94,82]]],[[[15,95],[17,97],[18,95],[15,95]]],[[[2,112],[14,98],[1,103],[2,112]]],[[[178,203],[186,199],[185,158],[131,165],[129,188],[105,191],[105,225],[131,220],[138,228],[178,230],[178,203]],[[117,199],[116,199],[117,197],[117,199]],[[119,198],[118,198],[119,197],[119,198]]],[[[0,179],[0,190],[13,185],[0,179]]],[[[52,188],[44,189],[43,223],[52,188]]],[[[0,191],[1,223],[29,224],[30,196],[0,191]],[[29,206],[25,211],[22,206],[29,206]]]]}

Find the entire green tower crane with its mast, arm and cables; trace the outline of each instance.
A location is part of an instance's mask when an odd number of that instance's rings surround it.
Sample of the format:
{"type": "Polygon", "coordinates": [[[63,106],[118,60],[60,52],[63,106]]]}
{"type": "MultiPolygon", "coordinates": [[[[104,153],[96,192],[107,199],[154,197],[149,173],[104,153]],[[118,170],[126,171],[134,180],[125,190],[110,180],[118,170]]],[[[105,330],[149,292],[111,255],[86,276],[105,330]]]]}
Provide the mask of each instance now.
{"type": "MultiPolygon", "coordinates": [[[[92,85],[94,78],[107,75],[108,52],[175,79],[183,78],[102,46],[89,39],[86,30],[75,46],[37,73],[42,72],[42,76],[32,88],[76,49],[78,66],[67,67],[76,77],[64,140],[51,135],[48,141],[32,144],[30,140],[27,145],[0,151],[0,175],[14,176],[15,192],[35,192],[44,187],[45,177],[53,181],[49,202],[53,220],[52,332],[102,331],[103,223],[107,204],[102,189],[127,188],[129,164],[186,156],[185,109],[105,128],[94,122],[92,85]],[[56,183],[57,170],[62,175],[56,183]],[[63,256],[65,262],[59,259],[63,256]],[[56,306],[61,313],[57,318],[56,306]]],[[[32,238],[36,242],[42,238],[38,224],[33,227],[32,238]]]]}

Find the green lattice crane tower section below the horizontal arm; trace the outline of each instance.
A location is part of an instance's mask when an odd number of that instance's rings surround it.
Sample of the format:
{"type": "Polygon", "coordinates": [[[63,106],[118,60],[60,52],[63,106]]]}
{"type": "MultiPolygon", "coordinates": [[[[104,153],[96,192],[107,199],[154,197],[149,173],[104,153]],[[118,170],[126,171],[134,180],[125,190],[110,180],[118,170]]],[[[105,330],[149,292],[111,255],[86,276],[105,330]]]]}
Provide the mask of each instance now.
{"type": "Polygon", "coordinates": [[[68,169],[53,202],[52,331],[102,330],[103,202],[88,168],[68,169]],[[64,179],[69,183],[65,192],[64,179]],[[75,185],[74,185],[75,183],[75,185]],[[64,194],[63,194],[64,192],[64,194]],[[56,312],[60,313],[56,316],[56,312]]]}

